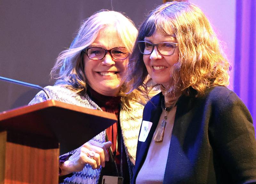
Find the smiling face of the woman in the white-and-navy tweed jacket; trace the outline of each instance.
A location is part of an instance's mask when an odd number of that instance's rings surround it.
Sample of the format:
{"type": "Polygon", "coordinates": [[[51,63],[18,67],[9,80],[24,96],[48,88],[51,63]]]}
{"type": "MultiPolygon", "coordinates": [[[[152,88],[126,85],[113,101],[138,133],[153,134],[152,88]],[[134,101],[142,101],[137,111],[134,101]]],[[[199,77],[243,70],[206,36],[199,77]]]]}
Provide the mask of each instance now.
{"type": "MultiPolygon", "coordinates": [[[[103,28],[94,42],[88,46],[101,47],[110,50],[115,47],[124,47],[116,28],[103,28]]],[[[91,60],[84,54],[84,73],[87,84],[96,92],[106,96],[116,96],[123,84],[128,58],[115,60],[108,52],[101,60],[91,60]]]]}

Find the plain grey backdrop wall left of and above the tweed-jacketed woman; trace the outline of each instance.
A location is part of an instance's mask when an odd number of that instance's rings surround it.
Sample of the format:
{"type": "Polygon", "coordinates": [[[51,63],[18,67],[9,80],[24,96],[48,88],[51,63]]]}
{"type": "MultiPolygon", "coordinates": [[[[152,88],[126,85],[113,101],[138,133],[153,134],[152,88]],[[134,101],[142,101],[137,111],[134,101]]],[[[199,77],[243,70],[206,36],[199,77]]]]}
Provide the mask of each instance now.
{"type": "MultiPolygon", "coordinates": [[[[101,9],[125,12],[138,27],[162,0],[1,0],[0,76],[53,85],[50,71],[81,23],[101,9]]],[[[27,105],[39,90],[0,81],[0,112],[27,105]]]]}

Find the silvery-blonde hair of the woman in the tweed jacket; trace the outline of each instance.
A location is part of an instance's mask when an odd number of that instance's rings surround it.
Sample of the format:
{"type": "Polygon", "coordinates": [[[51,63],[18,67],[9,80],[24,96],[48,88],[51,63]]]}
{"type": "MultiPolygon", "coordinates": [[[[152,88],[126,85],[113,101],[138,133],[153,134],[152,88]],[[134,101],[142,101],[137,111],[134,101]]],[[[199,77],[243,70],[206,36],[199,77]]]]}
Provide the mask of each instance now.
{"type": "MultiPolygon", "coordinates": [[[[57,79],[55,85],[68,87],[79,94],[86,93],[86,74],[81,53],[94,42],[99,32],[108,26],[115,26],[118,36],[131,54],[138,33],[132,20],[120,12],[108,10],[96,12],[81,25],[70,48],[60,52],[51,71],[51,77],[57,79]]],[[[127,94],[125,83],[122,85],[119,95],[124,96],[122,99],[127,107],[130,107],[130,100],[141,100],[140,92],[137,90],[127,94]]]]}

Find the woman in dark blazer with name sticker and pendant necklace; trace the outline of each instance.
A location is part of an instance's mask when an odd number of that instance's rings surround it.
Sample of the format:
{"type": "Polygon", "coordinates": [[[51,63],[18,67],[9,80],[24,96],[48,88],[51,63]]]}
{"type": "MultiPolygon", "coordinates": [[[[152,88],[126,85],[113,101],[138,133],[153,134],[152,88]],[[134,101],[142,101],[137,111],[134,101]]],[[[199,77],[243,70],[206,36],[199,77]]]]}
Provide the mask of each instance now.
{"type": "Polygon", "coordinates": [[[256,183],[252,117],[228,90],[230,65],[204,13],[188,2],[143,21],[128,64],[145,106],[132,183],[256,183]]]}

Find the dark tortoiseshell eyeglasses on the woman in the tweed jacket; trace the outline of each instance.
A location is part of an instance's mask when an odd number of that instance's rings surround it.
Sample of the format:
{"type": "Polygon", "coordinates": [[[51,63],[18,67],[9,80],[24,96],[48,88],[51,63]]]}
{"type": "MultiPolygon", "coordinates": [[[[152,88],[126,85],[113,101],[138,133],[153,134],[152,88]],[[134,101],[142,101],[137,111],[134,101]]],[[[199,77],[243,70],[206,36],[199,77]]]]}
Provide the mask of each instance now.
{"type": "Polygon", "coordinates": [[[129,52],[125,47],[115,47],[110,50],[106,50],[100,47],[86,48],[82,52],[85,52],[91,60],[101,60],[105,57],[107,52],[110,53],[111,57],[115,60],[124,60],[128,57],[129,52]]]}

